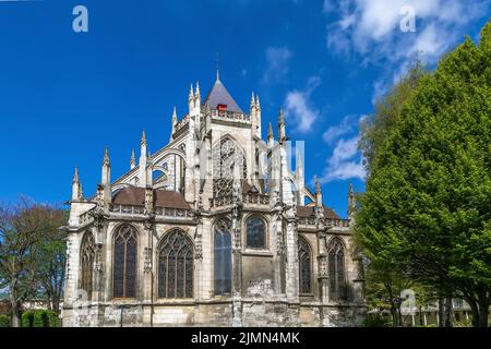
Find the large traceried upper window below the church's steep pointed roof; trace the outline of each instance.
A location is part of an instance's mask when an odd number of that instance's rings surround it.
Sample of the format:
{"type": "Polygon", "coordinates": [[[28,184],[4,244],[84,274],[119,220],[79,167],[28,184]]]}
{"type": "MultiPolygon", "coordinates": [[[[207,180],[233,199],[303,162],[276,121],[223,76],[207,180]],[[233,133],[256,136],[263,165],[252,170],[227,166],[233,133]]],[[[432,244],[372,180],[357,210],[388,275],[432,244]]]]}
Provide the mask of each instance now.
{"type": "Polygon", "coordinates": [[[246,156],[239,146],[229,137],[220,140],[213,152],[213,195],[214,197],[232,194],[236,179],[247,178],[246,156]]]}

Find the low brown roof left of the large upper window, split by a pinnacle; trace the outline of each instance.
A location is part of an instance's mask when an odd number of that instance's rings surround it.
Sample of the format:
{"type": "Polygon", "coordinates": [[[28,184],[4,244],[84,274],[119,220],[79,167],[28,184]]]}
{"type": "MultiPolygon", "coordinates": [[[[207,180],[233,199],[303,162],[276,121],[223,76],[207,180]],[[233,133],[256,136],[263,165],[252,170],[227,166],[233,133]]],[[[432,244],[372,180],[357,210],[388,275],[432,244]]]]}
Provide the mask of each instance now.
{"type": "MultiPolygon", "coordinates": [[[[145,205],[145,189],[128,185],[112,195],[115,205],[145,205]]],[[[191,209],[181,193],[168,190],[154,189],[154,206],[167,208],[191,209]]]]}

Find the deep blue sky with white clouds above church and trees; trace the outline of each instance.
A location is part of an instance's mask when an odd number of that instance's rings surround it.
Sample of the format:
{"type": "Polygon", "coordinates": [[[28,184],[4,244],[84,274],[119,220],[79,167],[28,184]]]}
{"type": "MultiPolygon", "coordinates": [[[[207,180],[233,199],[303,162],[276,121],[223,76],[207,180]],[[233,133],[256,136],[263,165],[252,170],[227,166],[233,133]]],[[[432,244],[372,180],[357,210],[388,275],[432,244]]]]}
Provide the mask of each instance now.
{"type": "Polygon", "coordinates": [[[93,193],[105,146],[124,173],[142,129],[157,151],[190,84],[207,92],[218,52],[242,109],[259,93],[263,130],[285,109],[307,181],[345,216],[349,181],[363,190],[359,120],[417,52],[434,67],[489,17],[489,0],[0,1],[0,201],[62,203],[75,165],[93,193]],[[72,29],[77,4],[88,33],[72,29]],[[407,5],[416,32],[400,29],[407,5]]]}

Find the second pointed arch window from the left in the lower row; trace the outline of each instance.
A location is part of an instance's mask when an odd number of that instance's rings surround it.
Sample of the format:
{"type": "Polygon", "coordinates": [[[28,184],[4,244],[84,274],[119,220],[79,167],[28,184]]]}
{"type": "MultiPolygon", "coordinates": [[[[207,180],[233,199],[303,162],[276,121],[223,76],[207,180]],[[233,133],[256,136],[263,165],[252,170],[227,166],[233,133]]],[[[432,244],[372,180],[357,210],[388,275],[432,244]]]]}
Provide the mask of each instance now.
{"type": "Polygon", "coordinates": [[[112,297],[134,298],[136,296],[136,231],[122,226],[115,234],[112,261],[112,297]]]}

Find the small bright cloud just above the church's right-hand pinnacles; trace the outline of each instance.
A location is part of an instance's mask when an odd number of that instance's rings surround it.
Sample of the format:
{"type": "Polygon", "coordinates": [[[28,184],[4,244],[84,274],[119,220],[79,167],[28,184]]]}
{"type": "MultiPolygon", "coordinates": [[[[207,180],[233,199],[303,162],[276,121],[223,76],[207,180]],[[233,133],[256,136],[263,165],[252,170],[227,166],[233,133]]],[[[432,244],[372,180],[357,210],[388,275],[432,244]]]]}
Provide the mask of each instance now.
{"type": "Polygon", "coordinates": [[[302,91],[294,89],[285,98],[285,117],[301,132],[309,132],[321,112],[312,106],[310,95],[319,86],[319,76],[309,79],[307,87],[302,91]]]}

